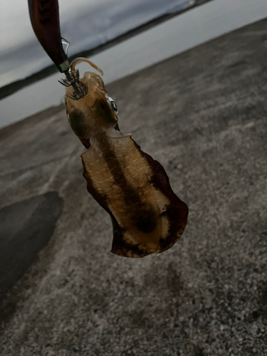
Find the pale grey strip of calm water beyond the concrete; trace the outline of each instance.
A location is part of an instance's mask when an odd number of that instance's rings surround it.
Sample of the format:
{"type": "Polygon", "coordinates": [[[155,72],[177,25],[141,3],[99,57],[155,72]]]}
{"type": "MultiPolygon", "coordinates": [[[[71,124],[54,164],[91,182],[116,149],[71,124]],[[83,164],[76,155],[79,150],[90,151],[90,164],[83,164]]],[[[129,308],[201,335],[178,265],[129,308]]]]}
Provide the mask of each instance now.
{"type": "MultiPolygon", "coordinates": [[[[267,17],[266,0],[214,0],[161,23],[90,57],[104,71],[106,84],[166,58],[267,17]]],[[[80,65],[81,75],[92,70],[80,65]]],[[[0,127],[63,102],[64,87],[55,74],[1,100],[0,127]]]]}

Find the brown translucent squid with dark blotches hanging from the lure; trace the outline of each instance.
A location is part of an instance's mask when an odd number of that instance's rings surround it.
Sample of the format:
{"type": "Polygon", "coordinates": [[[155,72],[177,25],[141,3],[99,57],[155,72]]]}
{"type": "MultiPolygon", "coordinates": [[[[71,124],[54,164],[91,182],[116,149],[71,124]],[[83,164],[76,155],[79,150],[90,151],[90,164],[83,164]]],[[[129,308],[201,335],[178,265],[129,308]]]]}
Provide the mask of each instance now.
{"type": "Polygon", "coordinates": [[[144,257],[172,247],[187,224],[188,207],[172,191],[164,168],[142,152],[117,125],[117,105],[100,75],[85,72],[79,78],[70,65],[82,98],[66,85],[68,121],[87,150],[81,155],[88,192],[110,214],[113,226],[111,252],[119,256],[144,257]]]}

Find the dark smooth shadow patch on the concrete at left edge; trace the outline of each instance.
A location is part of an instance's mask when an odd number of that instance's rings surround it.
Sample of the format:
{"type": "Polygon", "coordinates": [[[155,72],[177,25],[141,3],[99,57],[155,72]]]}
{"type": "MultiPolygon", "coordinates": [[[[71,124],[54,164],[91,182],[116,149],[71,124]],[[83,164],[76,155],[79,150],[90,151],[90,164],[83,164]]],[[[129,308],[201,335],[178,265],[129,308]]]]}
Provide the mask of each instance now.
{"type": "Polygon", "coordinates": [[[58,192],[50,192],[0,210],[0,300],[53,236],[62,205],[58,192]]]}

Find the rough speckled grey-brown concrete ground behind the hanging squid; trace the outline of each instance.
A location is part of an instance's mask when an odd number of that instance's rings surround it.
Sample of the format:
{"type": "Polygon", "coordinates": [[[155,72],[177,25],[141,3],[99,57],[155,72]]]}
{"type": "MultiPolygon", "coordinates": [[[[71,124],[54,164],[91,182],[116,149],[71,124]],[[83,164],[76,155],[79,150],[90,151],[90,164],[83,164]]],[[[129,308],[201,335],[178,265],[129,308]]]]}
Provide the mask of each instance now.
{"type": "Polygon", "coordinates": [[[264,20],[108,85],[122,132],[189,205],[159,256],[110,253],[63,106],[0,131],[5,244],[33,261],[1,302],[1,355],[267,355],[266,58],[264,20]]]}

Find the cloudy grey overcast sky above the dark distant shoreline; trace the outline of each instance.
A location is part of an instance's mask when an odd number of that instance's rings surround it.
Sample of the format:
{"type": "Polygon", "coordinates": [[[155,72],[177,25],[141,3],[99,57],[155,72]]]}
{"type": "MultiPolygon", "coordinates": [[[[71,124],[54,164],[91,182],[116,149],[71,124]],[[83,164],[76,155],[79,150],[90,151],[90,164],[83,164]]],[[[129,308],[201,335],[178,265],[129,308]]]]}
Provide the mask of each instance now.
{"type": "MultiPolygon", "coordinates": [[[[59,0],[69,54],[98,46],[189,0],[59,0]]],[[[0,0],[0,86],[51,65],[34,36],[27,0],[0,0]]]]}

